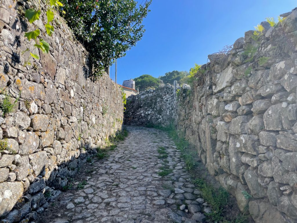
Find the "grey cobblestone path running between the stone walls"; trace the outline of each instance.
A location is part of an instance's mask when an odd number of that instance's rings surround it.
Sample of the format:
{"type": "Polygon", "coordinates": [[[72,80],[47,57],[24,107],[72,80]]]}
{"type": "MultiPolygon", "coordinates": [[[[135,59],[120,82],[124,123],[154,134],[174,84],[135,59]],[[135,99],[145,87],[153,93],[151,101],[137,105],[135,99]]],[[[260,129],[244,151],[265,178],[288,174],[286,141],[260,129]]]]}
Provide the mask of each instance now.
{"type": "MultiPolygon", "coordinates": [[[[38,222],[149,223],[203,222],[209,207],[191,183],[174,142],[167,134],[144,127],[127,127],[129,136],[105,160],[94,158],[81,190],[62,193],[57,206],[38,222]],[[161,159],[165,153],[168,157],[161,159]],[[165,162],[164,162],[165,161],[165,162]],[[157,173],[172,169],[167,176],[157,173]],[[161,169],[160,169],[161,168],[161,169]]],[[[166,156],[166,155],[165,155],[166,156]]]]}

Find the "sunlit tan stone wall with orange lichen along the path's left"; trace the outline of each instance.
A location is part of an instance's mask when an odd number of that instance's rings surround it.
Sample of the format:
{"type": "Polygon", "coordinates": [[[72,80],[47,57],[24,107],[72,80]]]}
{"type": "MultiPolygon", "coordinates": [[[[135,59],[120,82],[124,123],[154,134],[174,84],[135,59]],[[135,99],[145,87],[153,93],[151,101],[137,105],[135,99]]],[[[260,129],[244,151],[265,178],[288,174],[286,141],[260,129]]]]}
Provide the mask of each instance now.
{"type": "Polygon", "coordinates": [[[20,95],[14,111],[0,117],[0,222],[34,219],[123,120],[121,90],[107,75],[87,78],[88,53],[62,18],[44,37],[50,52],[35,51],[40,61],[23,66],[28,55],[20,52],[33,45],[24,32],[37,23],[27,24],[22,12],[34,2],[0,4],[0,88],[12,101],[20,95]]]}

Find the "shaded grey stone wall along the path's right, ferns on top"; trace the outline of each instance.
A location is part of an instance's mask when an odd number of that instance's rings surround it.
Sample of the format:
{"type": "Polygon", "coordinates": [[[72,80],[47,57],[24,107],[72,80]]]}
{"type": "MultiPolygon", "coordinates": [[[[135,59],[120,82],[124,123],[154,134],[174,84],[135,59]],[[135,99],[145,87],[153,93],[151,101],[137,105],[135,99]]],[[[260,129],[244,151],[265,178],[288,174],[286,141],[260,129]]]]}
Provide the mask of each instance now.
{"type": "MultiPolygon", "coordinates": [[[[285,16],[275,27],[263,22],[258,40],[248,31],[228,54],[209,55],[171,116],[210,174],[259,223],[297,221],[297,10],[285,16]]],[[[151,101],[166,97],[156,96],[151,101]]],[[[149,120],[150,108],[135,108],[149,120]]]]}

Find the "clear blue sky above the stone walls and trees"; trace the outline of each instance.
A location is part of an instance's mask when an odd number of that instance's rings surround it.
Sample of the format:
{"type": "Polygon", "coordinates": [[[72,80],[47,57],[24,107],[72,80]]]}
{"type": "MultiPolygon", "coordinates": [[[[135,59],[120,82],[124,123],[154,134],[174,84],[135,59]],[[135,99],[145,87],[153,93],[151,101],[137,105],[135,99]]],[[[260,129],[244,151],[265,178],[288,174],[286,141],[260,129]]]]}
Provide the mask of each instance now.
{"type": "MultiPolygon", "coordinates": [[[[159,77],[172,70],[189,71],[266,17],[277,20],[295,7],[296,0],[153,0],[143,20],[143,38],[118,59],[117,83],[143,74],[159,77]]],[[[114,80],[114,65],[110,73],[114,80]]]]}

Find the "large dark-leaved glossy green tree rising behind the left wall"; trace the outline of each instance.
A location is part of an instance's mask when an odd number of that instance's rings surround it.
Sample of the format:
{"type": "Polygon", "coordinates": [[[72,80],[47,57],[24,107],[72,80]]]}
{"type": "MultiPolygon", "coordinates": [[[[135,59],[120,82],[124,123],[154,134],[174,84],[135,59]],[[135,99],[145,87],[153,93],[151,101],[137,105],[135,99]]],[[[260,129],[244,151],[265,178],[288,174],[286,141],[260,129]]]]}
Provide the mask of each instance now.
{"type": "Polygon", "coordinates": [[[150,11],[134,0],[61,0],[68,26],[89,51],[93,73],[100,75],[141,39],[150,11]]]}

